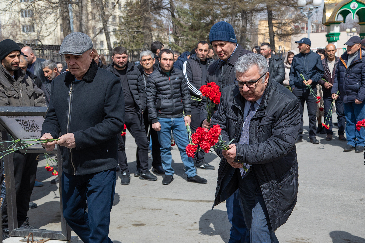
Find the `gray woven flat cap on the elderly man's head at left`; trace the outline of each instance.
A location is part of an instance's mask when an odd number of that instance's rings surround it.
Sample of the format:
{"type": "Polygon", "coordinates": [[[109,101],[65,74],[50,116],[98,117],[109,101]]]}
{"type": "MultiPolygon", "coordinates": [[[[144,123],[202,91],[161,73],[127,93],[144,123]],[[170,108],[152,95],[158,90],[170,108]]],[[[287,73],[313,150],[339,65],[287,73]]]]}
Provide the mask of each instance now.
{"type": "Polygon", "coordinates": [[[59,55],[71,54],[80,56],[90,49],[92,49],[92,41],[87,34],[72,32],[62,42],[59,48],[59,55]]]}

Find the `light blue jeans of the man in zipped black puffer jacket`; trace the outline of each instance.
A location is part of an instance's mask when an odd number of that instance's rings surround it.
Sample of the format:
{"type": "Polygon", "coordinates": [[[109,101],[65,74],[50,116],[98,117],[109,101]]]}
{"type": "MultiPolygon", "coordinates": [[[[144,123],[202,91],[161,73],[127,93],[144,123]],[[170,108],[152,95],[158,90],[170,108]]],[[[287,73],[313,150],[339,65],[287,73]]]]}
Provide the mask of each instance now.
{"type": "Polygon", "coordinates": [[[194,162],[186,154],[186,146],[188,146],[188,133],[183,117],[179,118],[158,118],[161,124],[161,130],[157,132],[158,141],[161,145],[161,161],[165,170],[165,175],[174,175],[174,169],[171,167],[171,131],[174,134],[175,143],[180,151],[180,157],[185,166],[185,174],[190,178],[196,176],[194,162]]]}

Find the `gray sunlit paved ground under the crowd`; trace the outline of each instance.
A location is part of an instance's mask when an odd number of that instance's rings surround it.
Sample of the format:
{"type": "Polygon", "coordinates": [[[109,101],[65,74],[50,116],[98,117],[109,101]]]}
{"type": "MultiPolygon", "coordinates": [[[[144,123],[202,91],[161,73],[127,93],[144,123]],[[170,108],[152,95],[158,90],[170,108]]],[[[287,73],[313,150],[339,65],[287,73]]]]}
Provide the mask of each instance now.
{"type": "MultiPolygon", "coordinates": [[[[304,125],[308,129],[307,119],[304,125]]],[[[288,222],[276,231],[280,242],[365,243],[364,156],[343,152],[346,142],[337,140],[337,129],[335,140],[328,142],[324,137],[318,136],[319,145],[307,141],[297,144],[298,201],[288,222]]],[[[128,166],[134,173],[136,145],[130,133],[126,138],[128,166]]],[[[308,135],[303,140],[308,140],[308,135]]],[[[120,185],[118,178],[111,212],[113,242],[228,243],[226,205],[219,204],[211,211],[218,157],[215,153],[206,155],[207,162],[216,169],[199,170],[198,175],[208,180],[208,184],[200,185],[186,181],[176,146],[172,154],[176,175],[170,185],[162,185],[162,176],[157,181],[145,181],[132,175],[127,186],[120,185]]],[[[32,194],[38,208],[30,209],[28,216],[36,227],[60,230],[58,186],[50,184],[54,176],[44,166],[45,161],[39,162],[37,172],[44,186],[34,188],[32,194]]]]}

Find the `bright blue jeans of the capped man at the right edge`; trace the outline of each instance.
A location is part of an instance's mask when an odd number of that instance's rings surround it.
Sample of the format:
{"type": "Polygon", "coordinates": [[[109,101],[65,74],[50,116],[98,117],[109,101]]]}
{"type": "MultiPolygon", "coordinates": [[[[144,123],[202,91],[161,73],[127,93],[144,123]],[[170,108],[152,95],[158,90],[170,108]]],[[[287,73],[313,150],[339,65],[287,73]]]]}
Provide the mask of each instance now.
{"type": "MultiPolygon", "coordinates": [[[[365,102],[361,104],[355,104],[355,102],[343,103],[346,117],[346,139],[347,144],[351,146],[363,146],[365,145],[365,129],[361,128],[360,131],[356,129],[356,123],[365,118],[365,102]],[[357,138],[357,141],[355,141],[357,138]]],[[[337,108],[337,107],[336,107],[337,108]]]]}

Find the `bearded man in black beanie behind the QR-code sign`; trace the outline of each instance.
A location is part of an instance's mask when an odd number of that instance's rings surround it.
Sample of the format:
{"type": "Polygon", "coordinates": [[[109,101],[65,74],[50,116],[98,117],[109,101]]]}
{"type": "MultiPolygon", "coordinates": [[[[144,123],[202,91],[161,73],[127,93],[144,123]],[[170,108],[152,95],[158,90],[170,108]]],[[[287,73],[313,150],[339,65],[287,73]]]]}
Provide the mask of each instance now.
{"type": "MultiPolygon", "coordinates": [[[[0,60],[0,106],[46,106],[43,91],[34,85],[34,82],[26,75],[24,70],[19,69],[19,45],[9,39],[0,42],[0,60]]],[[[27,213],[30,195],[34,187],[39,154],[15,152],[12,153],[12,156],[18,217],[16,227],[35,229],[35,227],[29,225],[27,213]]],[[[3,238],[8,237],[6,198],[2,209],[2,228],[3,238]]]]}

